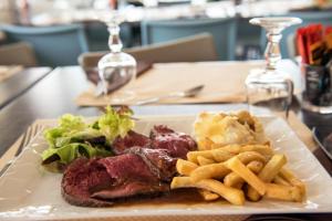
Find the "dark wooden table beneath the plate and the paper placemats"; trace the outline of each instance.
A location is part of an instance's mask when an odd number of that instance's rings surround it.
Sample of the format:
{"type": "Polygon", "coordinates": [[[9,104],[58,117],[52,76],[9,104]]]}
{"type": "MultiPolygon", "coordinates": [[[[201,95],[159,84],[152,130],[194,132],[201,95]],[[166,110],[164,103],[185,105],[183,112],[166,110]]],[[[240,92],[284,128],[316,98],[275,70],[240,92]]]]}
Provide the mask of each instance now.
{"type": "MultiPolygon", "coordinates": [[[[90,84],[82,70],[77,66],[59,67],[37,83],[28,92],[17,97],[0,112],[0,156],[15,141],[15,139],[38,118],[56,118],[64,113],[84,116],[95,116],[101,112],[95,107],[81,108],[74,104],[74,98],[89,88],[90,84]]],[[[243,104],[234,105],[156,105],[133,106],[137,115],[157,114],[197,114],[201,110],[228,110],[243,108],[243,104]]],[[[324,124],[331,124],[325,118],[324,124]]],[[[314,122],[311,122],[315,124],[314,122]]],[[[324,154],[317,149],[315,156],[332,171],[332,162],[326,160],[324,154]]],[[[326,199],[331,200],[331,199],[326,199]]],[[[309,220],[331,220],[332,213],[328,214],[294,214],[297,218],[309,220]]]]}

